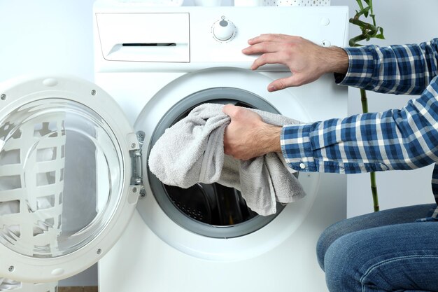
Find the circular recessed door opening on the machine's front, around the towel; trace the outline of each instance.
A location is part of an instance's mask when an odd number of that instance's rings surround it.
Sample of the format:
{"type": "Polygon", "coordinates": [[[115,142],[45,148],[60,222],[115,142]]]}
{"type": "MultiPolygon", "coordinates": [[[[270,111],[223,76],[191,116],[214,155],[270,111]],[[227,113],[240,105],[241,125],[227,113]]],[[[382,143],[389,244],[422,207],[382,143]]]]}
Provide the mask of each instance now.
{"type": "MultiPolygon", "coordinates": [[[[137,210],[148,228],[176,250],[202,260],[254,258],[282,244],[308,216],[319,186],[317,173],[298,176],[307,194],[304,199],[287,206],[278,203],[276,214],[259,216],[233,188],[216,183],[197,183],[187,189],[166,186],[148,169],[148,153],[157,139],[199,104],[236,104],[311,120],[292,91],[267,95],[271,81],[271,76],[246,69],[193,71],[162,88],[139,114],[134,129],[143,132],[146,195],[137,210]]],[[[311,88],[307,91],[305,96],[316,94],[311,88]]]]}

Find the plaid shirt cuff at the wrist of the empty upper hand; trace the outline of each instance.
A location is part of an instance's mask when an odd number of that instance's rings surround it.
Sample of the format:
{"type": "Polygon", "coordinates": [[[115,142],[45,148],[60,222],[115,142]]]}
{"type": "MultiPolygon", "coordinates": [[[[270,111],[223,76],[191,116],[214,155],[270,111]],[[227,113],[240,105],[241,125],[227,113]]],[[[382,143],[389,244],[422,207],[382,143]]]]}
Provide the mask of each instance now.
{"type": "Polygon", "coordinates": [[[372,46],[344,48],[348,55],[347,74],[334,74],[334,80],[339,85],[365,88],[372,82],[375,66],[375,50],[372,46]]]}

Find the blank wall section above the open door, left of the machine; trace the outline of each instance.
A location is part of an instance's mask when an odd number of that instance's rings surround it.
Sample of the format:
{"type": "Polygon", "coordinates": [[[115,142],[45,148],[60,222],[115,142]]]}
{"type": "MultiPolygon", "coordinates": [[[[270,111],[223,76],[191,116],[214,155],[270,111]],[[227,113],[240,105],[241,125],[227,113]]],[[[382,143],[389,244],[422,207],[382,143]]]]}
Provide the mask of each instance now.
{"type": "Polygon", "coordinates": [[[0,0],[0,81],[59,72],[92,81],[93,0],[0,0]]]}

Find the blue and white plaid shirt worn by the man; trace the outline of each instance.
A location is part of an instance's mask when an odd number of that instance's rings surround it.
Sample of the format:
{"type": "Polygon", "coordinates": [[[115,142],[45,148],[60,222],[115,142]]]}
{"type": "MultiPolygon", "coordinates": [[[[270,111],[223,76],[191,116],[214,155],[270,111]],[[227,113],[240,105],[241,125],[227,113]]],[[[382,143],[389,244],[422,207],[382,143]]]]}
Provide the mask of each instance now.
{"type": "MultiPolygon", "coordinates": [[[[341,85],[420,95],[403,109],[363,113],[281,132],[286,162],[301,172],[355,174],[416,169],[438,162],[438,39],[406,46],[345,49],[350,60],[341,85]]],[[[438,202],[438,166],[432,174],[438,202]]],[[[438,208],[422,221],[437,220],[438,208]]]]}

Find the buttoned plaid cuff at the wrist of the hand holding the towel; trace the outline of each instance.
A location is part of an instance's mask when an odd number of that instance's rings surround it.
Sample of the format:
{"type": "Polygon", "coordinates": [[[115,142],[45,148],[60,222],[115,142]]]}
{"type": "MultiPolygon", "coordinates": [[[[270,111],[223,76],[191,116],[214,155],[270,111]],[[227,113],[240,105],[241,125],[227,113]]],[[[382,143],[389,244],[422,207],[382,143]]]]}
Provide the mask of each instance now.
{"type": "Polygon", "coordinates": [[[310,140],[312,124],[285,125],[281,129],[281,151],[285,162],[298,172],[317,172],[310,140]]]}

